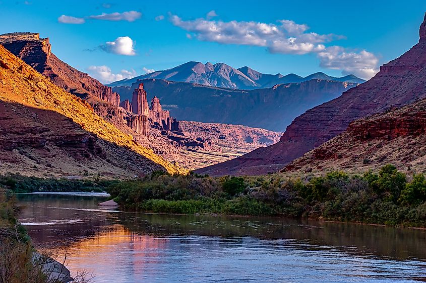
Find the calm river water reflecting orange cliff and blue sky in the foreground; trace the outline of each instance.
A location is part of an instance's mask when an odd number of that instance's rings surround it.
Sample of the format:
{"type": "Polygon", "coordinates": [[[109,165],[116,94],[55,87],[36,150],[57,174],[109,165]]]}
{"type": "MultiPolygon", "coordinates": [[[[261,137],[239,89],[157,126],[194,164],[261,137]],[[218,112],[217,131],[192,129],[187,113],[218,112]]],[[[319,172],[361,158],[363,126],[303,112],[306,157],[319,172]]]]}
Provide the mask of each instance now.
{"type": "Polygon", "coordinates": [[[283,218],[102,209],[105,197],[18,195],[35,246],[95,282],[426,281],[426,231],[283,218]]]}

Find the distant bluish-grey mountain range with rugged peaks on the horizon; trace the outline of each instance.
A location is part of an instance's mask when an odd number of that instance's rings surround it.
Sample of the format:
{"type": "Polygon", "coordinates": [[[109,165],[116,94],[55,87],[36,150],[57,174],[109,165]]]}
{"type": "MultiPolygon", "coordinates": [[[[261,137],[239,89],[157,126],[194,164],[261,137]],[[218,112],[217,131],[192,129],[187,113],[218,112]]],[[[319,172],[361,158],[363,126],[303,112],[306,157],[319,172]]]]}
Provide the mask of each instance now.
{"type": "Polygon", "coordinates": [[[332,77],[322,72],[311,74],[306,77],[301,77],[296,74],[288,74],[285,76],[282,74],[272,75],[258,72],[247,66],[235,69],[224,63],[217,63],[213,65],[210,62],[203,64],[201,62],[191,61],[171,69],[155,71],[134,78],[115,81],[108,84],[108,86],[131,86],[132,83],[136,82],[138,79],[147,78],[199,83],[208,86],[234,89],[268,88],[276,84],[298,83],[311,79],[325,79],[352,83],[365,82],[365,80],[356,77],[355,75],[332,77]]]}

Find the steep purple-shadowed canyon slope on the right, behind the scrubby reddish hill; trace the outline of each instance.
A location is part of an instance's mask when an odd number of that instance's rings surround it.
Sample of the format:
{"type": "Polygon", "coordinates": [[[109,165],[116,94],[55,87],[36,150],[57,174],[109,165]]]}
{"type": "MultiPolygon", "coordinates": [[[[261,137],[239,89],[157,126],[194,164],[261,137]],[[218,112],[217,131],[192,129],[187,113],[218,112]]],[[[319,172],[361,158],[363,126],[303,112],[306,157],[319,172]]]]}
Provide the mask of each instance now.
{"type": "Polygon", "coordinates": [[[198,170],[211,175],[274,172],[346,130],[349,123],[426,98],[426,17],[420,40],[369,81],[297,117],[280,142],[198,170]]]}

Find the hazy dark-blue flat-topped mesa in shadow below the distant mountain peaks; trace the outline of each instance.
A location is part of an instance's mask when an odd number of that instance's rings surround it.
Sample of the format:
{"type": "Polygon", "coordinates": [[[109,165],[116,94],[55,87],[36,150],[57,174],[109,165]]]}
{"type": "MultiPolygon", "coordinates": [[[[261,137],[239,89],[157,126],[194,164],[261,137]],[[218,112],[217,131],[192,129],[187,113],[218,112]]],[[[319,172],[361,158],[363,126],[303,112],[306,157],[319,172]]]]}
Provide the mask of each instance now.
{"type": "MultiPolygon", "coordinates": [[[[132,87],[114,87],[131,99],[132,87]]],[[[307,109],[330,101],[356,83],[313,79],[271,88],[236,90],[161,79],[142,81],[148,98],[157,96],[178,120],[245,125],[282,132],[307,109]]]]}

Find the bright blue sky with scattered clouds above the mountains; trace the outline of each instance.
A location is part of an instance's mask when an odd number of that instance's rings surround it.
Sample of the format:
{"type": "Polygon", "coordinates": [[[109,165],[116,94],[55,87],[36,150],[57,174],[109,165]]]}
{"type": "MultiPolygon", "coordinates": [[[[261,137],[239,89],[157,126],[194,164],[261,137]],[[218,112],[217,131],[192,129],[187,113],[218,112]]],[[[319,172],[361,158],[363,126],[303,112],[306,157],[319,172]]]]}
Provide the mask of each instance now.
{"type": "Polygon", "coordinates": [[[368,78],[418,41],[424,12],[424,0],[0,0],[0,33],[49,37],[60,59],[102,82],[187,61],[368,78]]]}

